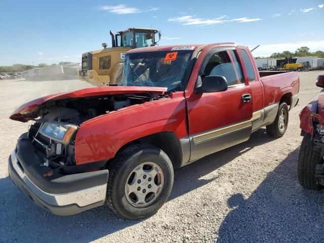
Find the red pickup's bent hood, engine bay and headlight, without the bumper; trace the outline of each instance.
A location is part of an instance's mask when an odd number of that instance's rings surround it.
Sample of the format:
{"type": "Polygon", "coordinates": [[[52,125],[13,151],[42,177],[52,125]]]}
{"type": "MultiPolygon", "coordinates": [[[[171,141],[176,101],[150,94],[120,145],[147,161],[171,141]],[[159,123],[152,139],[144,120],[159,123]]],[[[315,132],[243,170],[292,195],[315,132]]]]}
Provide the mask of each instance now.
{"type": "MultiPolygon", "coordinates": [[[[107,88],[111,90],[118,87],[107,88]]],[[[29,102],[19,107],[10,118],[19,121],[34,121],[29,127],[27,137],[41,159],[41,166],[60,171],[62,174],[100,170],[107,161],[77,165],[74,149],[77,131],[82,129],[83,123],[96,117],[167,97],[164,94],[165,88],[150,89],[153,89],[153,91],[145,93],[135,87],[134,93],[124,91],[125,94],[122,94],[122,91],[117,90],[112,94],[96,95],[94,92],[88,92],[88,96],[87,94],[80,95],[85,97],[70,94],[55,99],[45,97],[41,98],[43,102],[39,102],[39,99],[35,100],[36,105],[29,102]],[[161,91],[156,91],[158,89],[161,91]]],[[[107,127],[109,127],[109,124],[107,124],[107,127]]]]}

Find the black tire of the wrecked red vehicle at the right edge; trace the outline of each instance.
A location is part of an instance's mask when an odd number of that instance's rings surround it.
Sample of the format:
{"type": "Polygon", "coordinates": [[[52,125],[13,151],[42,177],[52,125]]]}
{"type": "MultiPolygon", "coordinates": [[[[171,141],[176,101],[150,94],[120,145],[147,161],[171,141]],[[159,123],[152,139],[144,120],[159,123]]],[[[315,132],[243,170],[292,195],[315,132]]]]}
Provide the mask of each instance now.
{"type": "Polygon", "coordinates": [[[324,188],[315,178],[317,164],[320,164],[320,152],[314,149],[313,139],[307,133],[303,138],[298,156],[298,181],[301,186],[316,191],[324,188]]]}

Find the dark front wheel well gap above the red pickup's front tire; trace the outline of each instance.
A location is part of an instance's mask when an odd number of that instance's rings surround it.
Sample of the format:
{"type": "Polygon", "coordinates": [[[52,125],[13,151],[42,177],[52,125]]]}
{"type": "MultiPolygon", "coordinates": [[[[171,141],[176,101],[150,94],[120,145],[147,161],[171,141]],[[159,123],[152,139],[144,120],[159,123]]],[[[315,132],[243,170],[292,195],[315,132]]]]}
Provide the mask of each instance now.
{"type": "Polygon", "coordinates": [[[131,144],[145,143],[163,150],[170,158],[174,168],[180,168],[182,164],[182,147],[178,137],[173,132],[160,132],[136,139],[123,147],[131,144]]]}

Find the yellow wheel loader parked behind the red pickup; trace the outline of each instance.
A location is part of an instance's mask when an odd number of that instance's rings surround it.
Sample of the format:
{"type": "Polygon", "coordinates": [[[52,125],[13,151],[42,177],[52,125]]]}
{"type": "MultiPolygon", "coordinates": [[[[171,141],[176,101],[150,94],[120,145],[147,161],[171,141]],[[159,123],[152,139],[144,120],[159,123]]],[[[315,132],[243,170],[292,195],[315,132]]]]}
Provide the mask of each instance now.
{"type": "Polygon", "coordinates": [[[82,54],[82,69],[79,79],[95,86],[117,85],[123,74],[124,55],[127,51],[157,45],[161,32],[149,28],[129,28],[111,32],[111,46],[107,48],[102,43],[103,49],[82,54]]]}

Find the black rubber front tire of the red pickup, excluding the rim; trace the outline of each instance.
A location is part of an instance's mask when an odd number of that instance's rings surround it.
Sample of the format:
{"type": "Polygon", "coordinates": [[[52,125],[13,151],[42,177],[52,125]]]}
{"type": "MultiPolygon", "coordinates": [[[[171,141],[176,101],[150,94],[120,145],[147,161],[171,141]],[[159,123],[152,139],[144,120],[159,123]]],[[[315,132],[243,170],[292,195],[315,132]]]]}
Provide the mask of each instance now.
{"type": "Polygon", "coordinates": [[[108,171],[106,202],[112,211],[121,217],[131,220],[149,217],[155,214],[170,196],[174,178],[173,166],[168,155],[157,147],[146,144],[126,147],[109,162],[108,171]],[[138,208],[129,203],[125,185],[134,168],[147,161],[152,161],[161,168],[164,173],[164,185],[151,205],[138,208]]]}

